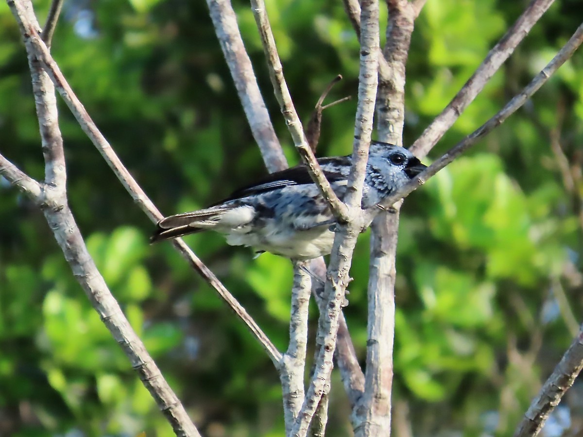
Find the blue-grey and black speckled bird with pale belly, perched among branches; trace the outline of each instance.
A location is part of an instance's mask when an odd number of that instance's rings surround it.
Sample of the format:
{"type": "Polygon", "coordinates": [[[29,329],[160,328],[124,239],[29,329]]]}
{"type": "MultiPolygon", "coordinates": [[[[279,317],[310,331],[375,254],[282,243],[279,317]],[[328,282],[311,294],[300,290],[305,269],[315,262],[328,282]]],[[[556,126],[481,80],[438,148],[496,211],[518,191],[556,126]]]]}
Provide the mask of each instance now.
{"type": "MultiPolygon", "coordinates": [[[[318,158],[333,191],[343,200],[351,156],[318,158]]],[[[374,206],[426,168],[403,147],[371,143],[363,209],[374,206]]],[[[305,165],[268,175],[206,209],[163,218],[151,242],[206,230],[226,234],[231,246],[252,246],[294,260],[332,251],[335,219],[305,165]]],[[[370,224],[370,223],[369,223],[370,224]]]]}

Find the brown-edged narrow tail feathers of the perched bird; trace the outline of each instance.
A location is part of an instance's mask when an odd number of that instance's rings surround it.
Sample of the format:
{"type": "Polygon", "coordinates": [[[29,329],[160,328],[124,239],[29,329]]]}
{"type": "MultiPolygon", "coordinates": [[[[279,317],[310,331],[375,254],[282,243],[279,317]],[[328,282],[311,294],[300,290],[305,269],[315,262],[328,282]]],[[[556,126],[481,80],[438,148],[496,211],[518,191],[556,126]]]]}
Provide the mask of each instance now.
{"type": "Polygon", "coordinates": [[[156,232],[150,237],[150,243],[165,239],[182,237],[214,227],[219,223],[220,216],[228,208],[208,208],[191,213],[176,214],[163,218],[157,223],[156,232]]]}

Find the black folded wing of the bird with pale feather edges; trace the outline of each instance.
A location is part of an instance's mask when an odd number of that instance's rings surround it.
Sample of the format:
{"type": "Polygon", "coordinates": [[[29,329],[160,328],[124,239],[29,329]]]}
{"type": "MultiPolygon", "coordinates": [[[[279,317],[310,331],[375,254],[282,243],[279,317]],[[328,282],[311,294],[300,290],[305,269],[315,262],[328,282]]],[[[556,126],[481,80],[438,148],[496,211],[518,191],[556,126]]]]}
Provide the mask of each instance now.
{"type": "MultiPolygon", "coordinates": [[[[326,179],[328,182],[345,181],[348,171],[350,170],[350,157],[340,156],[331,158],[318,158],[326,179]]],[[[306,165],[296,165],[296,167],[287,168],[286,170],[276,171],[269,174],[261,181],[246,186],[235,191],[229,198],[217,202],[220,205],[229,200],[240,199],[258,193],[265,193],[275,189],[284,188],[285,186],[313,184],[310,172],[306,165]]]]}

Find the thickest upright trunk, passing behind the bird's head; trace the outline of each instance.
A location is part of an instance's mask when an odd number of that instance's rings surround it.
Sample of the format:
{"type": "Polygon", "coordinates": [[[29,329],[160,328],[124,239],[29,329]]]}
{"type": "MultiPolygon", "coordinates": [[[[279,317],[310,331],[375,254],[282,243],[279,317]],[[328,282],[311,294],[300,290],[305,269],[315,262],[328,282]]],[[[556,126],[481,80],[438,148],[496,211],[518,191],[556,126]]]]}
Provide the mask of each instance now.
{"type": "MultiPolygon", "coordinates": [[[[392,75],[379,82],[377,129],[382,141],[400,146],[405,122],[405,66],[416,12],[407,0],[388,0],[387,7],[387,44],[383,54],[392,75]]],[[[396,205],[392,214],[379,214],[371,226],[367,364],[364,393],[353,407],[356,437],[391,433],[395,257],[400,206],[400,203],[396,205]]]]}

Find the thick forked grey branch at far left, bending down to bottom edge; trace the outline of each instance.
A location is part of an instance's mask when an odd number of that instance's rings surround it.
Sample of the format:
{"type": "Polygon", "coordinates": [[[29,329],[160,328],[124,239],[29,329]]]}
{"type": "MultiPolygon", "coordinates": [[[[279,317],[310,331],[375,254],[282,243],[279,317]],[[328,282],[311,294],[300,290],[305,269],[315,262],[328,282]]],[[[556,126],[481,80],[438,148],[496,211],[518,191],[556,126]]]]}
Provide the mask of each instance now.
{"type": "MultiPolygon", "coordinates": [[[[17,22],[19,22],[24,40],[27,41],[29,39],[26,29],[29,29],[31,33],[37,34],[38,23],[31,3],[28,0],[21,2],[9,1],[8,5],[17,22]]],[[[61,132],[58,127],[55,89],[37,61],[34,50],[31,50],[31,44],[26,44],[26,48],[43,143],[47,179],[34,200],[43,210],[47,223],[59,246],[61,246],[65,259],[71,266],[73,276],[85,290],[87,298],[99,313],[101,320],[110,330],[115,341],[124,350],[124,353],[131,361],[132,367],[138,372],[143,384],[156,400],[160,410],[173,427],[175,434],[180,436],[200,436],[180,400],[178,400],[178,397],[147,353],[142,341],[129,325],[127,318],[125,318],[117,301],[108,290],[107,284],[87,251],[66,199],[65,157],[61,132]]],[[[8,174],[13,176],[13,181],[16,184],[19,184],[19,181],[15,180],[15,175],[22,180],[27,180],[23,178],[22,172],[20,174],[16,172],[15,167],[6,168],[11,170],[8,174]]],[[[27,182],[30,184],[30,180],[27,180],[27,182]]],[[[31,191],[28,193],[33,194],[31,191]]]]}

